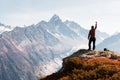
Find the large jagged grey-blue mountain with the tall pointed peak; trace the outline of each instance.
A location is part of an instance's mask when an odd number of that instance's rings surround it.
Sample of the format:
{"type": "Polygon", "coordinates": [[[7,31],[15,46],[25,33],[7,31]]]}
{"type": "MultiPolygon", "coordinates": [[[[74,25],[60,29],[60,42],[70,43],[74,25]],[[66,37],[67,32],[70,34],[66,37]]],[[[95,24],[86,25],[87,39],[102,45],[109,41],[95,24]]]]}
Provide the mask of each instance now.
{"type": "MultiPolygon", "coordinates": [[[[99,32],[99,41],[107,36],[99,32]]],[[[54,15],[0,35],[0,80],[37,80],[62,66],[62,58],[86,48],[88,30],[54,15]]]]}

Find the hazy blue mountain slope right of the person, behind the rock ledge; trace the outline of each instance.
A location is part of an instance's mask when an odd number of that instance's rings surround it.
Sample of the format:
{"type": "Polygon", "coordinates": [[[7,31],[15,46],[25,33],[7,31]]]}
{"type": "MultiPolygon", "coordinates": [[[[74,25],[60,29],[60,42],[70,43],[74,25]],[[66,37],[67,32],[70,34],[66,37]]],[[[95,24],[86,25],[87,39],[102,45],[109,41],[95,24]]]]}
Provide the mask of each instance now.
{"type": "Polygon", "coordinates": [[[117,33],[109,38],[103,40],[97,45],[98,49],[108,48],[112,51],[120,52],[120,33],[117,33]]]}

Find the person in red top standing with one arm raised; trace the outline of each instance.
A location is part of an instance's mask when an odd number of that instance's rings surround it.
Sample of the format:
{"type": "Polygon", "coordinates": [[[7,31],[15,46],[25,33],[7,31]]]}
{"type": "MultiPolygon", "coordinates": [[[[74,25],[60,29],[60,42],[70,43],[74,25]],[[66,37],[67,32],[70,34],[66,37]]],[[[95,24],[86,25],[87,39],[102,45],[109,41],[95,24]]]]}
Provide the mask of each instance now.
{"type": "Polygon", "coordinates": [[[91,43],[92,42],[93,42],[93,50],[95,50],[95,42],[96,42],[95,32],[96,32],[96,29],[97,29],[97,22],[95,22],[95,28],[94,28],[94,26],[91,26],[91,30],[89,31],[89,34],[88,34],[88,40],[89,40],[88,50],[91,50],[91,43]]]}

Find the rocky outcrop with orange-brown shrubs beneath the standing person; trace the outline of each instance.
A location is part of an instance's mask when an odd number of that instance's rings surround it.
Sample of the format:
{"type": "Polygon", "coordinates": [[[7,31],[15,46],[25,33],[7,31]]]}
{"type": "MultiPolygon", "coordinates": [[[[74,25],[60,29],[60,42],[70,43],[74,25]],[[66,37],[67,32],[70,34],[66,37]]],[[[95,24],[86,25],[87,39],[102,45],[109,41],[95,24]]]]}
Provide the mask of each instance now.
{"type": "Polygon", "coordinates": [[[120,80],[120,54],[82,49],[64,58],[58,72],[40,80],[120,80]]]}

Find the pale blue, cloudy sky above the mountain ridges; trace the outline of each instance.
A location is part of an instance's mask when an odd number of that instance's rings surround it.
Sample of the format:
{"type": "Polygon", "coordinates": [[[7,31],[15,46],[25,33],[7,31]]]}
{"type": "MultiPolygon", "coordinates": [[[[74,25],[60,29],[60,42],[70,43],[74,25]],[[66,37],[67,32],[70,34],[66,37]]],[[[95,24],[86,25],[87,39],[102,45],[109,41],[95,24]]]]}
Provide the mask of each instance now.
{"type": "Polygon", "coordinates": [[[37,24],[54,14],[85,29],[97,21],[102,32],[120,32],[120,0],[0,0],[0,22],[6,25],[37,24]]]}

